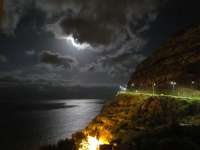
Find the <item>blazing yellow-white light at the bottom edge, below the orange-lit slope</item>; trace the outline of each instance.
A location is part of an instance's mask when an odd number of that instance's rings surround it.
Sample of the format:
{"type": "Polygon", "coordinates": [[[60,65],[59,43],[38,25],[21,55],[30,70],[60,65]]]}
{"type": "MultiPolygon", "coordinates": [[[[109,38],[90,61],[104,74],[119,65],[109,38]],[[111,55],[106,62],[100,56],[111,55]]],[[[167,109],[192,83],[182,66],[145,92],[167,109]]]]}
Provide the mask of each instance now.
{"type": "Polygon", "coordinates": [[[79,150],[99,150],[99,146],[109,144],[107,141],[98,140],[96,137],[88,136],[87,140],[80,144],[79,150]]]}

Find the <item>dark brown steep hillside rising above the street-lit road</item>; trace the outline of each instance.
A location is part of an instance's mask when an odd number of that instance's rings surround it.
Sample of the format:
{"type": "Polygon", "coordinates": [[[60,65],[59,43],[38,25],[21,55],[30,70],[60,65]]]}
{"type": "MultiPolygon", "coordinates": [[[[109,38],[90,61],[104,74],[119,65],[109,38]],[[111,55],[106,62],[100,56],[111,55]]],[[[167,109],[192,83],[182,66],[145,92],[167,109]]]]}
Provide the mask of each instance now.
{"type": "Polygon", "coordinates": [[[132,74],[129,85],[166,85],[176,81],[188,86],[200,81],[200,25],[176,33],[166,44],[141,63],[132,74]]]}

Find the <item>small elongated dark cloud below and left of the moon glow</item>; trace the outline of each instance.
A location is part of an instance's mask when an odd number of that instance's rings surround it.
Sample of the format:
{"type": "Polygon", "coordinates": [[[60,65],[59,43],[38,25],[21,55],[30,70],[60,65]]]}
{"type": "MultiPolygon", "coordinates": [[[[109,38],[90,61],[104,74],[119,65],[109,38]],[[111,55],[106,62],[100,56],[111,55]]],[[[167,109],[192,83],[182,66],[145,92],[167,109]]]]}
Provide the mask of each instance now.
{"type": "Polygon", "coordinates": [[[74,57],[63,56],[59,53],[54,53],[51,51],[42,51],[40,55],[40,61],[46,64],[64,66],[67,69],[71,69],[78,64],[74,57]]]}

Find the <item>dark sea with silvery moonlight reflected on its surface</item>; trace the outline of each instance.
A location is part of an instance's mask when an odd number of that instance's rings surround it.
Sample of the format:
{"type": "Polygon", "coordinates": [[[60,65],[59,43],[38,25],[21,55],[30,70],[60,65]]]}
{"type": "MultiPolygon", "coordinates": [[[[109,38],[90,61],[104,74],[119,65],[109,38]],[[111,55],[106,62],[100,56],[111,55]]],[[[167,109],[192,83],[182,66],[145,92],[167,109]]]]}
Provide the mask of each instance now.
{"type": "Polygon", "coordinates": [[[0,149],[32,150],[70,138],[101,110],[104,100],[0,102],[0,149]]]}

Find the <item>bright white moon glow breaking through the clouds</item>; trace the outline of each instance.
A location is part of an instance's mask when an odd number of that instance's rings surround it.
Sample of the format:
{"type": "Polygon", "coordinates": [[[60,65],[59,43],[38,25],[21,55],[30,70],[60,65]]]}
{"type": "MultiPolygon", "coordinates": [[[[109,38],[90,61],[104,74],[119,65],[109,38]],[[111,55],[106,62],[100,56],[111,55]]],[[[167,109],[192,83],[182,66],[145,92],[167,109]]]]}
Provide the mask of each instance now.
{"type": "Polygon", "coordinates": [[[84,50],[91,48],[91,45],[89,43],[79,43],[77,39],[75,39],[72,35],[64,37],[64,39],[67,40],[67,42],[71,43],[73,47],[75,47],[77,50],[84,50]]]}

